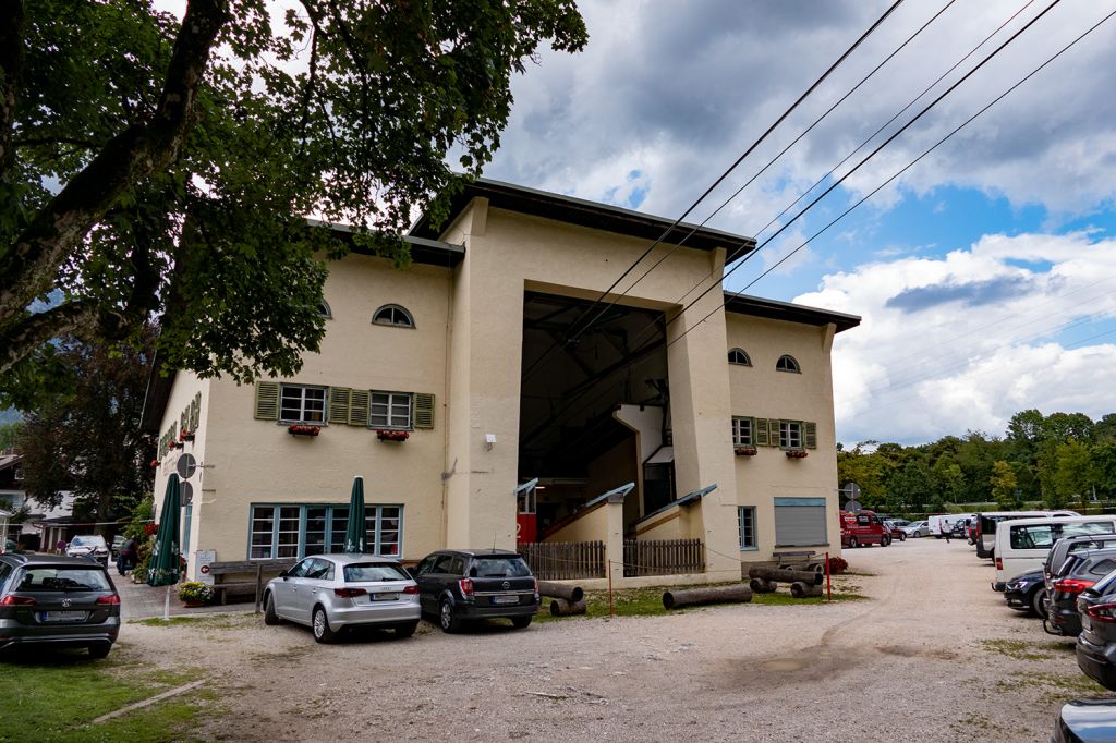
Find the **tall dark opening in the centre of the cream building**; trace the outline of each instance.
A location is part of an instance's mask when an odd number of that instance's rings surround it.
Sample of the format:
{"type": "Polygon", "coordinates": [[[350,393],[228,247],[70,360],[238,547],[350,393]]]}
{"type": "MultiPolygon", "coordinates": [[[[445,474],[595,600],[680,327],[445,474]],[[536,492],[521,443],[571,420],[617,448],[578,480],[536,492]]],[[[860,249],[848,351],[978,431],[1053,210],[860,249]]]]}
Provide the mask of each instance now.
{"type": "Polygon", "coordinates": [[[539,479],[521,541],[627,482],[626,527],[674,500],[662,311],[527,291],[521,368],[519,477],[539,479]],[[628,425],[617,409],[633,411],[628,425]]]}

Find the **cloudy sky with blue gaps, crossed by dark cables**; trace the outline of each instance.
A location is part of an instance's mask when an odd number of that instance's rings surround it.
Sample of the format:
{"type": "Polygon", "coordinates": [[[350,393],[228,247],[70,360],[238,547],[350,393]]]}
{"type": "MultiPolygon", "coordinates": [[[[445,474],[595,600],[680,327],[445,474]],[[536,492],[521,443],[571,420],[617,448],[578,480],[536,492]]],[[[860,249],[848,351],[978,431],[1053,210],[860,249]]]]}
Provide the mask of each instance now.
{"type": "MultiPolygon", "coordinates": [[[[729,289],[863,317],[834,349],[846,445],[1001,435],[1028,407],[1116,412],[1116,18],[884,185],[1116,2],[1057,3],[787,225],[1050,1],[906,0],[689,218],[760,241],[729,289]]],[[[888,6],[584,1],[589,47],[545,52],[517,79],[485,175],[677,218],[888,6]]]]}

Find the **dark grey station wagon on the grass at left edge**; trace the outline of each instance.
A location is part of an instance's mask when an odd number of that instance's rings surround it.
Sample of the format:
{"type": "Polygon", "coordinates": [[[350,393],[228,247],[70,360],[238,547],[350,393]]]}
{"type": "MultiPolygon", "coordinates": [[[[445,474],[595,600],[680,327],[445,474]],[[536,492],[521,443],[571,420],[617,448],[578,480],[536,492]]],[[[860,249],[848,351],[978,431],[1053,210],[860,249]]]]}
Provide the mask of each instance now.
{"type": "Polygon", "coordinates": [[[121,631],[121,596],[104,566],[46,553],[0,556],[0,649],[77,646],[104,658],[121,631]]]}

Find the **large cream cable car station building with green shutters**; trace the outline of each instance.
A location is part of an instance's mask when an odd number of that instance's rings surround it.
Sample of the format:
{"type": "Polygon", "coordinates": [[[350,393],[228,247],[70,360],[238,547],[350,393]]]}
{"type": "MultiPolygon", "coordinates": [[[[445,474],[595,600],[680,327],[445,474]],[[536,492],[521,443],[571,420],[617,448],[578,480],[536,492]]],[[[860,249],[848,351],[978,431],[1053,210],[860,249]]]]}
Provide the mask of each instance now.
{"type": "Polygon", "coordinates": [[[480,181],[443,230],[413,228],[412,268],[330,264],[326,336],[296,377],[154,375],[156,501],[183,453],[203,465],[191,577],[199,550],[339,549],[354,475],[369,550],[408,561],[517,532],[603,542],[617,567],[624,542],[700,540],[694,580],[837,552],[830,349],[859,319],[723,292],[725,255],[754,243],[709,229],[675,228],[613,288],[670,228],[480,181]]]}

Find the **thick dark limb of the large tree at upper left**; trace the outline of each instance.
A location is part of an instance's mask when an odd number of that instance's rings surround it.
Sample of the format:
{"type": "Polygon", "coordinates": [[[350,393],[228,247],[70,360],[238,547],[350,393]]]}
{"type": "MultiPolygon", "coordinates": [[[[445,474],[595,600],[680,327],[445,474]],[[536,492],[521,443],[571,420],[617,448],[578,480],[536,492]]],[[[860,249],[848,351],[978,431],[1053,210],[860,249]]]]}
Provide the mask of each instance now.
{"type": "MultiPolygon", "coordinates": [[[[190,0],[151,123],[113,137],[0,255],[0,328],[50,289],[67,253],[125,191],[175,160],[218,32],[228,20],[227,0],[190,0]]],[[[26,350],[6,346],[3,358],[26,350]]],[[[0,360],[0,372],[10,363],[0,360]]]]}

